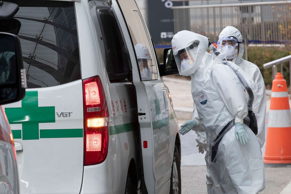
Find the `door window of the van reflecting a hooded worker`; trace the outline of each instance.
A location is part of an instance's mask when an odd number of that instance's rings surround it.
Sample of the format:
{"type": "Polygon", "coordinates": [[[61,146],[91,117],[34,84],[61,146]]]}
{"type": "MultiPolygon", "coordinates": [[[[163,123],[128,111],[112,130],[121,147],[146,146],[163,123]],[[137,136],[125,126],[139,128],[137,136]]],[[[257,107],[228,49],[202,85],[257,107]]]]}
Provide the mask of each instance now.
{"type": "Polygon", "coordinates": [[[141,80],[156,80],[158,79],[157,61],[150,44],[150,38],[142,18],[136,10],[136,5],[133,5],[131,2],[119,1],[119,5],[125,17],[136,52],[141,80]]]}

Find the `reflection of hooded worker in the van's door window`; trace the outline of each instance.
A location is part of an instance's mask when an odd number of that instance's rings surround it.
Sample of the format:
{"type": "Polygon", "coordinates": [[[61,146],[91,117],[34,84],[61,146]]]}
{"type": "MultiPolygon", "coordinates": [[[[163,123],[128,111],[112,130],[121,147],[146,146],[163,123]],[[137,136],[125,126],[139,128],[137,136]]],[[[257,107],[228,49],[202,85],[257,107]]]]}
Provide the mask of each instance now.
{"type": "Polygon", "coordinates": [[[138,43],[134,46],[138,60],[141,80],[152,80],[152,58],[146,46],[138,43]]]}

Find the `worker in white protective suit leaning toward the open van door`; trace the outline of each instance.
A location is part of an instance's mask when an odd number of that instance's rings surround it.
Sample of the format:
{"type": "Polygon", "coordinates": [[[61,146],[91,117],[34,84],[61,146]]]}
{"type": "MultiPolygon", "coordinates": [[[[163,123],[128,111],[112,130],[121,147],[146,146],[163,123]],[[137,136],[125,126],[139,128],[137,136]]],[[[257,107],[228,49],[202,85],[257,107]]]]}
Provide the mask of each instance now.
{"type": "Polygon", "coordinates": [[[255,134],[243,124],[246,95],[234,71],[207,53],[208,43],[207,37],[190,31],[172,39],[180,75],[191,76],[199,116],[182,124],[180,133],[206,132],[207,168],[222,193],[258,193],[265,188],[264,165],[255,134]]]}

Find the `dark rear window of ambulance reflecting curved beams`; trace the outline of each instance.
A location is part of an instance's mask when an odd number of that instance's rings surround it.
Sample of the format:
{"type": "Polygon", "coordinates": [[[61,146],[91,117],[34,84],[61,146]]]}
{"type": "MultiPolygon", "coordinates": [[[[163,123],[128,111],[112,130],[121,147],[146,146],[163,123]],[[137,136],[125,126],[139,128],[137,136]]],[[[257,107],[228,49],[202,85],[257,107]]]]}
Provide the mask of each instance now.
{"type": "MultiPolygon", "coordinates": [[[[6,2],[7,0],[5,0],[6,2]]],[[[68,1],[8,0],[19,11],[0,20],[0,31],[21,41],[28,88],[81,79],[75,7],[68,1]]]]}

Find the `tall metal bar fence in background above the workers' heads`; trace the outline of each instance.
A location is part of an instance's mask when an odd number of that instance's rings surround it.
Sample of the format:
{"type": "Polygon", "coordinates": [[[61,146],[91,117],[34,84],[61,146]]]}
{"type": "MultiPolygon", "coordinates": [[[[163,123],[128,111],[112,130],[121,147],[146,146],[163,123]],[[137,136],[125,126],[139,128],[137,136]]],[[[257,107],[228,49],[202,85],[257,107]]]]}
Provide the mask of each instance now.
{"type": "Polygon", "coordinates": [[[290,43],[290,7],[291,1],[174,6],[174,30],[190,30],[216,42],[223,28],[235,26],[245,44],[290,43]]]}

